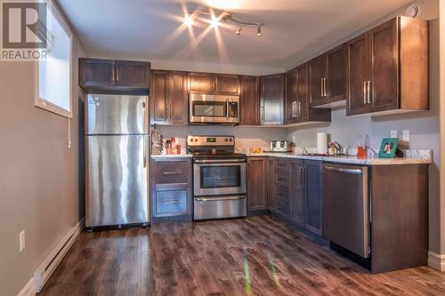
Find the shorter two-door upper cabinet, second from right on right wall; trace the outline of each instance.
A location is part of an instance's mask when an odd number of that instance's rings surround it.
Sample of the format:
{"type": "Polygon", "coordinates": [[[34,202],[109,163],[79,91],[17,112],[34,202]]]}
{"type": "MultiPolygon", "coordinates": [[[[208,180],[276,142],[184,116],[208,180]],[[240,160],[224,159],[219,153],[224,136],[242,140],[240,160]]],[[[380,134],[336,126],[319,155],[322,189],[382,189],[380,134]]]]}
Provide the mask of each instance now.
{"type": "Polygon", "coordinates": [[[346,104],[346,46],[342,44],[309,63],[309,97],[312,108],[346,104]]]}

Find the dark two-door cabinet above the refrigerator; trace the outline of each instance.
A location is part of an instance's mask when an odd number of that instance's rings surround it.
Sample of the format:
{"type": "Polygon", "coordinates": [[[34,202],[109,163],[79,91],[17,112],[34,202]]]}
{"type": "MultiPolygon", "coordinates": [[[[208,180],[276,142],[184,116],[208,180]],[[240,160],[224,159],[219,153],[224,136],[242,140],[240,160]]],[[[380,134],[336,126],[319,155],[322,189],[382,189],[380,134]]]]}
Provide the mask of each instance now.
{"type": "Polygon", "coordinates": [[[150,62],[80,58],[79,85],[86,92],[149,94],[150,62]]]}

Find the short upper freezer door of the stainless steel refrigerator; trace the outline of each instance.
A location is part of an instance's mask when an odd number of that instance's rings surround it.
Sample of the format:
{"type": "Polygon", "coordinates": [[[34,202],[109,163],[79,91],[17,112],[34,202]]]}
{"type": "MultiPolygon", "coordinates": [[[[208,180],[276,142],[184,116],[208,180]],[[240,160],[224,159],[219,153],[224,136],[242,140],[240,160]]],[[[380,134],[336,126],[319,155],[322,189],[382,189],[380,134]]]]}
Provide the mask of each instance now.
{"type": "Polygon", "coordinates": [[[147,97],[89,94],[87,100],[86,134],[147,133],[147,97]]]}

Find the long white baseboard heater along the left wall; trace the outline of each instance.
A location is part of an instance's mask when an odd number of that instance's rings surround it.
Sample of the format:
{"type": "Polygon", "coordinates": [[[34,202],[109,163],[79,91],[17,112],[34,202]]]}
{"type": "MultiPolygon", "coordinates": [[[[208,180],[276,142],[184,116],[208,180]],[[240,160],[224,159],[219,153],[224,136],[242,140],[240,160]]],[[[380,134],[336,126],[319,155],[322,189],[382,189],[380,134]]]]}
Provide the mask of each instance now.
{"type": "Polygon", "coordinates": [[[65,254],[69,251],[69,248],[74,244],[76,237],[83,228],[84,221],[85,220],[81,220],[75,227],[69,229],[69,232],[63,236],[59,244],[53,248],[44,261],[36,268],[33,275],[36,292],[42,291],[48,278],[50,278],[55,268],[57,268],[65,254]]]}

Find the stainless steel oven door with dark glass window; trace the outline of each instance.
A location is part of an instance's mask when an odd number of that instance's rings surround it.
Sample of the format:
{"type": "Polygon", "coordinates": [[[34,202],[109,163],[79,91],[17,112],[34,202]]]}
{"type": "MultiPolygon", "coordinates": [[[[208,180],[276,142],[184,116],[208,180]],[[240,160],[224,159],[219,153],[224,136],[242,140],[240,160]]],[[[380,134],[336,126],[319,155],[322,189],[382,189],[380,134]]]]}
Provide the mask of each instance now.
{"type": "Polygon", "coordinates": [[[247,193],[245,159],[197,159],[193,164],[194,196],[227,196],[247,193]]]}

